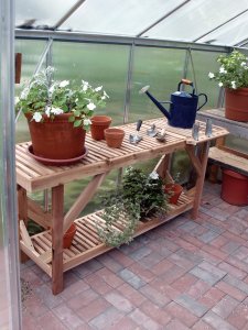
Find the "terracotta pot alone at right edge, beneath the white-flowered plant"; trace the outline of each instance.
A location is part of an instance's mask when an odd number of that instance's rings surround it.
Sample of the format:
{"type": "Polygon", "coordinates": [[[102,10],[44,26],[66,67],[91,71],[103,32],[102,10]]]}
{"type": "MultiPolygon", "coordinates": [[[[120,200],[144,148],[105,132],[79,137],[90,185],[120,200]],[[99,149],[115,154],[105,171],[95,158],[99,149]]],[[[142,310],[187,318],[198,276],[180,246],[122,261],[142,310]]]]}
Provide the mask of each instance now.
{"type": "Polygon", "coordinates": [[[225,117],[248,122],[248,88],[226,88],[225,117]]]}

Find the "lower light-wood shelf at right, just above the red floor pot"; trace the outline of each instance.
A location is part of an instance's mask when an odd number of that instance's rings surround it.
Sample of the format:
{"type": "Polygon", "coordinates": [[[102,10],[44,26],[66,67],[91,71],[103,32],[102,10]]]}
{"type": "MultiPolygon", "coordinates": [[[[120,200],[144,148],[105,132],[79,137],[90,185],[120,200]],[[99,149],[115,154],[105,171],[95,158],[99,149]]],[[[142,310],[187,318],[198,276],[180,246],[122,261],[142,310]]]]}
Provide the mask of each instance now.
{"type": "Polygon", "coordinates": [[[233,169],[244,175],[248,175],[248,160],[228,153],[216,146],[211,147],[208,160],[225,168],[233,169]]]}

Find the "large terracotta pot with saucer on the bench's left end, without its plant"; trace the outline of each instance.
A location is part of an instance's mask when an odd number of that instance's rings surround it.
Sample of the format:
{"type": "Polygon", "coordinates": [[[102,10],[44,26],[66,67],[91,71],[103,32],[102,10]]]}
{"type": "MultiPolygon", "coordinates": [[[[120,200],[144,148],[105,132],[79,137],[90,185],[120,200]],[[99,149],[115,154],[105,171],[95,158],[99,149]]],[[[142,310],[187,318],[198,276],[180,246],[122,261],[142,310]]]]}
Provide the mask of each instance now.
{"type": "Polygon", "coordinates": [[[71,113],[58,114],[51,120],[44,116],[44,122],[31,121],[26,114],[32,150],[34,155],[47,160],[71,160],[85,152],[85,130],[74,128],[68,122],[71,113]]]}

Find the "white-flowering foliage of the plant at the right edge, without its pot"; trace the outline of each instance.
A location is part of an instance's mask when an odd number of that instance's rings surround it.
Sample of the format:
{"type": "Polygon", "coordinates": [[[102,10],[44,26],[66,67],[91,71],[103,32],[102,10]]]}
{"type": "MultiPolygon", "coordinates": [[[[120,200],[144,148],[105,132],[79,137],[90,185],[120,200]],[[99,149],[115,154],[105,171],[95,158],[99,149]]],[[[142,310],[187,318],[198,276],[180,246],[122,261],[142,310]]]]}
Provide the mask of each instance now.
{"type": "Polygon", "coordinates": [[[218,82],[219,87],[237,89],[248,87],[248,58],[239,51],[217,58],[220,67],[217,73],[209,73],[208,78],[218,82]]]}

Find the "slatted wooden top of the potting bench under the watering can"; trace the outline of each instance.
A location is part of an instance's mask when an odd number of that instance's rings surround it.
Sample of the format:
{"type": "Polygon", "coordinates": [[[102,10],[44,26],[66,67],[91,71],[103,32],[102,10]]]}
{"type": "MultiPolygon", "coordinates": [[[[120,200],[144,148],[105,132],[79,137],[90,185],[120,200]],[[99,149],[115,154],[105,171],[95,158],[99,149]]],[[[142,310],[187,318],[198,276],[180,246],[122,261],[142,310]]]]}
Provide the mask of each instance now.
{"type": "Polygon", "coordinates": [[[126,136],[120,148],[111,148],[105,141],[95,141],[86,134],[88,154],[85,158],[71,166],[47,166],[36,162],[28,152],[31,142],[19,143],[15,146],[17,183],[26,191],[32,193],[66,184],[72,180],[106,173],[112,168],[128,166],[155,156],[184,148],[186,144],[196,144],[227,135],[227,130],[213,127],[213,136],[205,135],[205,123],[200,122],[200,140],[192,138],[192,130],[176,129],[168,125],[165,118],[143,122],[139,144],[129,143],[129,134],[134,133],[136,124],[121,125],[126,136]],[[157,129],[166,130],[166,142],[161,143],[155,138],[147,135],[147,130],[154,123],[157,129]]]}

